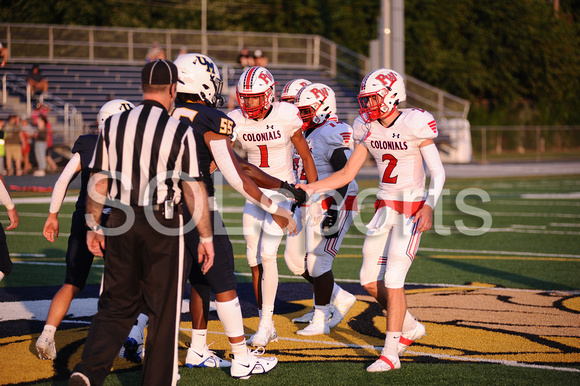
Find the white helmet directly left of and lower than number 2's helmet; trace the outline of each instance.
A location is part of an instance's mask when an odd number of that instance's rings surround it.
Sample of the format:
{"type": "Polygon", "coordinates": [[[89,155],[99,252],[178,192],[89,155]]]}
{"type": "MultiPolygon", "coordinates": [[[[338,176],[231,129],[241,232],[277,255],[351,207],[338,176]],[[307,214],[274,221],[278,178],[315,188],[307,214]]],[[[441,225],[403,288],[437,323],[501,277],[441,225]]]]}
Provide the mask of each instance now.
{"type": "Polygon", "coordinates": [[[302,130],[318,126],[336,114],[334,91],[325,84],[312,83],[298,91],[294,102],[304,122],[302,130]]]}

